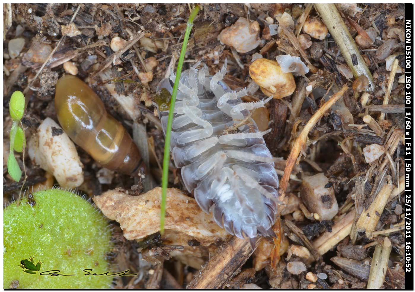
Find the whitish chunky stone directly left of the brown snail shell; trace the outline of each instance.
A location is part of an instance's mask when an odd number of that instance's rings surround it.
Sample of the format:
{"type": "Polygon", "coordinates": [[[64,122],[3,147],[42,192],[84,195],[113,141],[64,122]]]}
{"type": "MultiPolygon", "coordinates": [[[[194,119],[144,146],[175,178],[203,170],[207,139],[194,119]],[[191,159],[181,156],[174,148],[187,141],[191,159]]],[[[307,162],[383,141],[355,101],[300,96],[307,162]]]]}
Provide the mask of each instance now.
{"type": "Polygon", "coordinates": [[[51,118],[46,118],[32,136],[29,157],[42,169],[52,173],[63,188],[83,183],[82,163],[75,145],[51,118]]]}

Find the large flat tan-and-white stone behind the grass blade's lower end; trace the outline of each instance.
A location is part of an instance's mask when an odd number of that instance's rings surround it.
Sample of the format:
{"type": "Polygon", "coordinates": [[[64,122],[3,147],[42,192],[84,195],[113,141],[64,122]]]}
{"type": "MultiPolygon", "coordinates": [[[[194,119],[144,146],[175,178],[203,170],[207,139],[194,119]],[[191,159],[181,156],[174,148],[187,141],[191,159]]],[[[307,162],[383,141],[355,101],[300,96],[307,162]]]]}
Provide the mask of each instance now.
{"type": "MultiPolygon", "coordinates": [[[[125,238],[140,239],[160,231],[161,187],[138,197],[119,190],[109,190],[93,198],[103,214],[120,223],[125,238]]],[[[203,246],[224,239],[227,233],[210,214],[203,212],[196,200],[176,188],[167,189],[164,228],[180,231],[197,239],[203,246]]]]}

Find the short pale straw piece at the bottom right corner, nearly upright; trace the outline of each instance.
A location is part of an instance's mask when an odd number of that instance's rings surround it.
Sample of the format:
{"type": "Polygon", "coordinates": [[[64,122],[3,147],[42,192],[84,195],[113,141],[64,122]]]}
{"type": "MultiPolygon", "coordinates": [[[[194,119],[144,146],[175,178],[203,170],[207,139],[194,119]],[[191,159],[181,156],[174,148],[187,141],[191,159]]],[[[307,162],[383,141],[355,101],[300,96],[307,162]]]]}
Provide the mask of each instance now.
{"type": "Polygon", "coordinates": [[[378,244],[376,246],[370,267],[367,289],[380,289],[383,285],[391,250],[392,244],[387,237],[383,241],[383,244],[378,244]]]}

